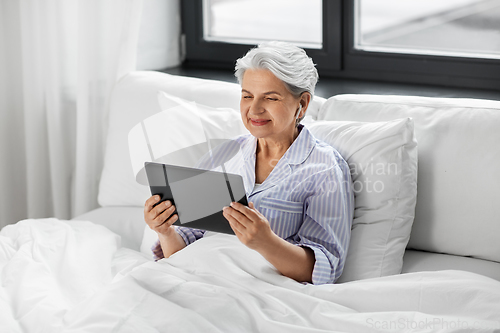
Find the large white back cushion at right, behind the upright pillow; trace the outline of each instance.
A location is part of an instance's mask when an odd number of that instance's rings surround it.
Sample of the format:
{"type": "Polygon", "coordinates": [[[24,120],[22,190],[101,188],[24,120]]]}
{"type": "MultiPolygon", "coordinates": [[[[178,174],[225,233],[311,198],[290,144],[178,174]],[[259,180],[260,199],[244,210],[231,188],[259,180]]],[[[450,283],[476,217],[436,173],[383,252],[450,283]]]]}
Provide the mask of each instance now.
{"type": "Polygon", "coordinates": [[[500,262],[500,102],[337,95],[319,119],[411,117],[418,140],[418,198],[408,248],[500,262]]]}

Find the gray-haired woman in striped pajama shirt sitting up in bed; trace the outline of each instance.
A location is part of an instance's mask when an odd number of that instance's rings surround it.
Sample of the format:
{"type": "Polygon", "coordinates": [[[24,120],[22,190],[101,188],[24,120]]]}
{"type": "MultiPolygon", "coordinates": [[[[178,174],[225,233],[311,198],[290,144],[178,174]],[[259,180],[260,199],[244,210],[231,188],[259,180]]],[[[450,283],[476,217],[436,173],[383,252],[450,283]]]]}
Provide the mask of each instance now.
{"type": "MultiPolygon", "coordinates": [[[[318,74],[304,50],[270,42],[236,62],[241,85],[241,120],[250,134],[236,138],[249,205],[224,207],[238,239],[259,252],[283,275],[299,282],[334,283],[342,273],[353,217],[347,163],[331,146],[300,124],[311,103],[318,74]]],[[[158,234],[156,259],[203,237],[204,231],[172,227],[170,202],[144,207],[158,234]]]]}

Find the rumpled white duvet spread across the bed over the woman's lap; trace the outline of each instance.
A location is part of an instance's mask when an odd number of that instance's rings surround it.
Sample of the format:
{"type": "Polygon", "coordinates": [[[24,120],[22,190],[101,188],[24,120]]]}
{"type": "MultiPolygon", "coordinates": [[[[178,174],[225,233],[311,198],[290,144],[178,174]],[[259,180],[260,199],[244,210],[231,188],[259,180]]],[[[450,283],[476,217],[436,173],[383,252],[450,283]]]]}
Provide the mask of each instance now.
{"type": "Polygon", "coordinates": [[[461,271],[313,286],[234,236],[152,262],[83,221],[0,232],[0,332],[500,332],[500,282],[461,271]]]}

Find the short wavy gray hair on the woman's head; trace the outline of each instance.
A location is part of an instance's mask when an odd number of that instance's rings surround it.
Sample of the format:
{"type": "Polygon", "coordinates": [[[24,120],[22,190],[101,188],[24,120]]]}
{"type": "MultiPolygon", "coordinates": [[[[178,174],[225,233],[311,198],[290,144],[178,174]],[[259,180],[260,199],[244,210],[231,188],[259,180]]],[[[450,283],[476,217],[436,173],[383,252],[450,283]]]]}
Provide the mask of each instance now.
{"type": "Polygon", "coordinates": [[[240,85],[247,69],[267,69],[285,84],[292,95],[299,97],[308,92],[311,98],[314,97],[318,71],[306,51],[293,44],[262,43],[236,60],[234,75],[240,85]]]}

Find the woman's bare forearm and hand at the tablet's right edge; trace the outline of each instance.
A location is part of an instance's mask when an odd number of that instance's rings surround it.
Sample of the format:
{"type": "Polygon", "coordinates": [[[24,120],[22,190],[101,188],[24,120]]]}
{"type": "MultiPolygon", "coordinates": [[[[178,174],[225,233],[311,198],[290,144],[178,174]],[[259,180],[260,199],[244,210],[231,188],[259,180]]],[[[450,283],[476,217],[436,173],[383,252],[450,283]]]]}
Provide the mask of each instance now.
{"type": "Polygon", "coordinates": [[[298,282],[312,282],[314,252],[277,236],[271,230],[269,221],[255,209],[252,202],[248,207],[233,202],[231,207],[224,208],[223,214],[238,239],[259,252],[281,274],[298,282]]]}

